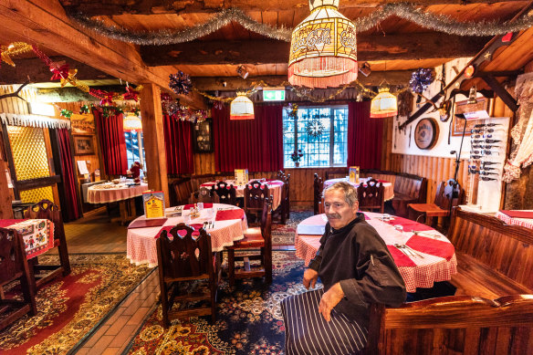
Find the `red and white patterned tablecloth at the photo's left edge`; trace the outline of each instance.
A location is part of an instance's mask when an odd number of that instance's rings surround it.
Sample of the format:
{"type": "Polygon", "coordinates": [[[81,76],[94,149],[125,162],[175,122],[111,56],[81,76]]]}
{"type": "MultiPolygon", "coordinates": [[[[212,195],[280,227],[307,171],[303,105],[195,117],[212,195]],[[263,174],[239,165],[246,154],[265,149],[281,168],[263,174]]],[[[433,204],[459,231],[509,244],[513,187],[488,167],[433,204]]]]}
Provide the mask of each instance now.
{"type": "Polygon", "coordinates": [[[54,224],[47,219],[0,220],[0,227],[16,229],[24,239],[26,257],[31,259],[54,247],[54,224]]]}

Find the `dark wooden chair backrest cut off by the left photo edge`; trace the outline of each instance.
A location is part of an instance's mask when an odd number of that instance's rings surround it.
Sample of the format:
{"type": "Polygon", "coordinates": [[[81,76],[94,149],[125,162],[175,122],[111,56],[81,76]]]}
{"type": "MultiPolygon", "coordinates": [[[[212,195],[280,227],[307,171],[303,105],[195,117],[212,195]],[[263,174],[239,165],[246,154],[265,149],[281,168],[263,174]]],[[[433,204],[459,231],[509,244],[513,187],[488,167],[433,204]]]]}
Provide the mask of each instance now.
{"type": "Polygon", "coordinates": [[[25,263],[22,235],[13,229],[0,228],[0,287],[20,277],[25,263]]]}

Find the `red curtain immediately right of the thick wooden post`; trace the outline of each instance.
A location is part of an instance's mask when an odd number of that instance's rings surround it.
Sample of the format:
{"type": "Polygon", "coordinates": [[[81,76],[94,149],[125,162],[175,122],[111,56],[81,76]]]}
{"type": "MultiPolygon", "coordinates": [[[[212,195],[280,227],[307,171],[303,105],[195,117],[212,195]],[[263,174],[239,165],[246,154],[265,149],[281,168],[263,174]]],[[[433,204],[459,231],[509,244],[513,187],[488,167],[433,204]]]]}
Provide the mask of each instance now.
{"type": "Polygon", "coordinates": [[[164,147],[168,173],[193,173],[193,124],[163,115],[164,147]]]}

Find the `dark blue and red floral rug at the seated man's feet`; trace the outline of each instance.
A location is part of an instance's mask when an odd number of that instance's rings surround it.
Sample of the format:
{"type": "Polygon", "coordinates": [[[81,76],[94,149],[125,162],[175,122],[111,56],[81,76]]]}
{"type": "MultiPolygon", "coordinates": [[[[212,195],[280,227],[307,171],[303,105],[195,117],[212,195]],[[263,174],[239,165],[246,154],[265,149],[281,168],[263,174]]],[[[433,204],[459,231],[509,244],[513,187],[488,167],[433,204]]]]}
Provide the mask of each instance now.
{"type": "Polygon", "coordinates": [[[158,307],[131,342],[130,354],[280,354],[285,328],[279,302],[305,291],[303,261],[293,251],[274,251],[272,285],[262,278],[223,282],[218,291],[217,320],[175,319],[165,331],[158,307]]]}

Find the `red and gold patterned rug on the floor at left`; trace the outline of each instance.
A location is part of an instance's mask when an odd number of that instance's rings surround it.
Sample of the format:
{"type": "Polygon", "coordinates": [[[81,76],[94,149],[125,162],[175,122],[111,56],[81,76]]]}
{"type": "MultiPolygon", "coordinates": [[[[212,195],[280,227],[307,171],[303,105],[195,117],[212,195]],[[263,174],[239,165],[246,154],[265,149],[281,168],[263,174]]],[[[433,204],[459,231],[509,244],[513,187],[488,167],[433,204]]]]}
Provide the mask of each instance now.
{"type": "MultiPolygon", "coordinates": [[[[71,274],[38,290],[37,316],[20,318],[0,332],[0,353],[66,354],[152,270],[131,265],[125,254],[69,257],[71,274]]],[[[39,256],[41,264],[56,260],[39,256]]]]}

